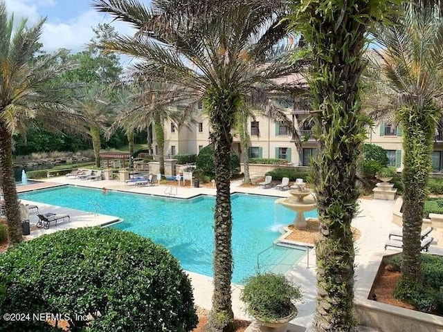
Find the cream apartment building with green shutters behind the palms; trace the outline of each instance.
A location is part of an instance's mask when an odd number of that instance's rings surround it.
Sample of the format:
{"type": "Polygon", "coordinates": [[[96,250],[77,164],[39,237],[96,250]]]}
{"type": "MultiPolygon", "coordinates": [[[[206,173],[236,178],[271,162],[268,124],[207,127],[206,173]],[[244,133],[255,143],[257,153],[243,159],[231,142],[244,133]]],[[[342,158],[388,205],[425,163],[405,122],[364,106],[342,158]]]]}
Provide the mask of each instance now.
{"type": "MultiPolygon", "coordinates": [[[[309,115],[308,104],[299,99],[288,102],[284,98],[273,98],[276,107],[282,109],[287,117],[296,124],[300,136],[301,148],[297,149],[293,135],[279,122],[257,116],[248,122],[248,133],[251,136],[251,146],[248,156],[251,158],[281,158],[295,166],[309,166],[311,156],[317,151],[316,140],[311,136],[311,128],[303,125],[302,120],[309,115]]],[[[165,156],[173,158],[175,154],[198,154],[210,143],[210,124],[204,113],[204,106],[199,104],[195,109],[195,124],[190,128],[178,129],[174,123],[165,124],[165,156]]],[[[389,165],[402,168],[403,150],[401,147],[401,127],[380,122],[376,127],[368,129],[368,143],[379,145],[386,149],[389,165]]],[[[153,138],[154,154],[158,155],[156,138],[153,138]]],[[[239,135],[234,133],[233,150],[241,157],[239,135]]],[[[443,171],[443,130],[435,134],[434,151],[432,154],[433,172],[443,171]]],[[[242,161],[242,160],[241,160],[242,161]]]]}

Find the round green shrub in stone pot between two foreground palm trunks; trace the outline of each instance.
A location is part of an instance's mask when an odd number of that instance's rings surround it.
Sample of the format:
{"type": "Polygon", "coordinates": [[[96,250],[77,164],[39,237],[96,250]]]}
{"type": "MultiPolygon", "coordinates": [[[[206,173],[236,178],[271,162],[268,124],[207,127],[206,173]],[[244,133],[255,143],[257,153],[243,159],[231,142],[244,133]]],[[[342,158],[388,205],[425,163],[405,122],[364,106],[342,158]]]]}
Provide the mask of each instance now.
{"type": "Polygon", "coordinates": [[[302,294],[284,275],[264,273],[245,280],[241,299],[246,312],[269,328],[282,328],[296,317],[298,311],[293,304],[302,294]]]}

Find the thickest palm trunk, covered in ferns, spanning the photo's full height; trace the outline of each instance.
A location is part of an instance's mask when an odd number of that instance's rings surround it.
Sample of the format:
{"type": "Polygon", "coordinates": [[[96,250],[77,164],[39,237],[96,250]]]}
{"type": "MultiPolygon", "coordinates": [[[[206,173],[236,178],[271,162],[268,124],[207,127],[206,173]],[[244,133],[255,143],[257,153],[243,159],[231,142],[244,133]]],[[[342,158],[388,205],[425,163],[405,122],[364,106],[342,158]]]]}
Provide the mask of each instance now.
{"type": "Polygon", "coordinates": [[[390,1],[294,1],[292,28],[311,48],[308,82],[313,95],[314,186],[320,236],[316,244],[316,331],[352,331],[357,160],[365,139],[359,78],[365,68],[366,34],[382,21],[390,1]]]}

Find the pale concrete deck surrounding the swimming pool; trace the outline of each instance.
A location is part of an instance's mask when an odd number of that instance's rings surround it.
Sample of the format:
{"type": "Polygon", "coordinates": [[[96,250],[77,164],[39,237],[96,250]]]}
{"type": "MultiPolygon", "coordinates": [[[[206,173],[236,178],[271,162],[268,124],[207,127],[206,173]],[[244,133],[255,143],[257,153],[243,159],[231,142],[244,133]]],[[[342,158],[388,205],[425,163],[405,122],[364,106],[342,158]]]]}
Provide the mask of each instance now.
{"type": "MultiPolygon", "coordinates": [[[[136,187],[134,185],[125,185],[120,181],[80,181],[72,178],[66,179],[65,176],[60,176],[56,178],[43,179],[40,184],[33,184],[30,190],[37,190],[39,187],[51,187],[58,186],[60,184],[78,185],[84,187],[94,187],[102,188],[106,187],[107,190],[118,190],[122,192],[135,192],[140,194],[153,194],[158,196],[168,196],[177,197],[181,199],[188,199],[199,194],[215,195],[215,188],[213,187],[175,187],[170,185],[154,185],[152,187],[136,187]],[[172,189],[171,189],[172,188],[172,189]],[[177,189],[176,189],[177,188],[177,189]],[[172,190],[172,194],[168,194],[172,190]]],[[[247,194],[260,194],[278,197],[290,196],[287,191],[270,189],[262,189],[260,187],[242,187],[241,181],[233,181],[231,183],[231,192],[242,192],[247,194]]],[[[28,191],[27,186],[20,186],[20,192],[28,191]]],[[[18,189],[18,188],[17,188],[18,189]]],[[[27,202],[26,202],[27,203],[27,202]]],[[[29,202],[31,203],[31,202],[29,202]]],[[[358,228],[361,232],[361,237],[355,243],[356,248],[356,270],[355,270],[355,295],[356,299],[365,299],[372,286],[372,281],[375,274],[377,273],[379,261],[383,255],[395,252],[394,250],[384,250],[384,245],[388,239],[388,234],[392,229],[399,229],[399,226],[392,223],[392,209],[394,208],[395,201],[381,201],[372,199],[360,199],[360,213],[352,225],[358,228]],[[374,257],[376,257],[374,259],[374,257]]],[[[37,203],[37,205],[42,205],[37,203]]],[[[42,233],[48,231],[55,231],[71,228],[70,226],[76,227],[86,227],[87,225],[102,225],[104,223],[109,223],[111,219],[116,217],[105,216],[105,215],[94,215],[91,212],[82,212],[75,210],[68,210],[65,208],[55,208],[55,207],[44,207],[48,211],[53,209],[59,209],[60,213],[72,214],[73,221],[71,223],[57,223],[57,227],[53,227],[49,230],[42,230],[42,233]],[[75,219],[78,218],[78,223],[72,224],[75,219]]],[[[42,210],[44,212],[44,210],[42,210]]],[[[31,216],[33,218],[33,216],[31,216]]],[[[35,216],[37,218],[37,216],[35,216]]],[[[32,221],[31,221],[32,222],[32,221]]],[[[443,241],[442,230],[436,232],[433,231],[432,236],[435,239],[441,239],[443,241]]],[[[39,235],[37,235],[39,236],[39,235]]],[[[437,246],[442,246],[442,241],[437,242],[437,246]]],[[[434,245],[433,245],[434,246],[434,245]]],[[[309,329],[311,325],[311,320],[314,313],[314,308],[316,305],[316,266],[315,266],[316,256],[315,250],[309,250],[309,254],[305,255],[302,260],[291,268],[288,277],[293,281],[294,284],[300,285],[300,289],[303,293],[302,303],[297,304],[298,316],[291,321],[292,324],[300,326],[300,331],[304,329],[309,329]]],[[[213,284],[212,278],[206,277],[204,275],[199,275],[197,273],[188,272],[190,279],[192,280],[192,286],[194,288],[195,304],[201,306],[202,308],[210,309],[213,284]]],[[[240,291],[242,286],[232,285],[233,290],[233,311],[235,316],[240,319],[251,319],[246,313],[244,313],[244,305],[239,300],[240,291]]],[[[296,331],[296,330],[294,330],[296,331]]],[[[371,330],[372,331],[372,330],[371,330]]]]}

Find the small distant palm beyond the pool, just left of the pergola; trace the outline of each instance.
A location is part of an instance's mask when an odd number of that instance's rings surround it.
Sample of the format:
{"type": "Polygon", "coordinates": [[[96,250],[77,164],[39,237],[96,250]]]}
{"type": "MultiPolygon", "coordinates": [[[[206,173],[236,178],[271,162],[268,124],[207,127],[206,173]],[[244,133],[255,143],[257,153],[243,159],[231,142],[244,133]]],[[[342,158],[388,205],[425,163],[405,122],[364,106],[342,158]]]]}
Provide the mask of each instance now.
{"type": "Polygon", "coordinates": [[[107,91],[99,84],[85,86],[78,91],[74,101],[75,107],[83,114],[92,139],[92,148],[96,159],[96,167],[100,167],[100,132],[105,128],[109,120],[111,108],[107,97],[107,91]]]}

